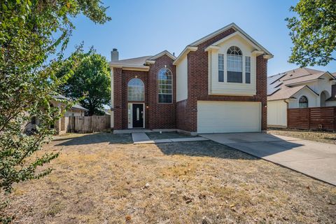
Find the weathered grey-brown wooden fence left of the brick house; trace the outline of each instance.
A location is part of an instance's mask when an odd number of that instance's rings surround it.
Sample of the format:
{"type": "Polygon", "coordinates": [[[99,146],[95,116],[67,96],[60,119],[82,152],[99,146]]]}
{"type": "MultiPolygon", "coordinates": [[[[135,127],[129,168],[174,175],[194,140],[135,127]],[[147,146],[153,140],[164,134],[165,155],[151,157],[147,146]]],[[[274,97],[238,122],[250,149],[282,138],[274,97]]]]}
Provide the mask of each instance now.
{"type": "Polygon", "coordinates": [[[91,133],[111,130],[111,116],[69,117],[67,132],[91,133]]]}

